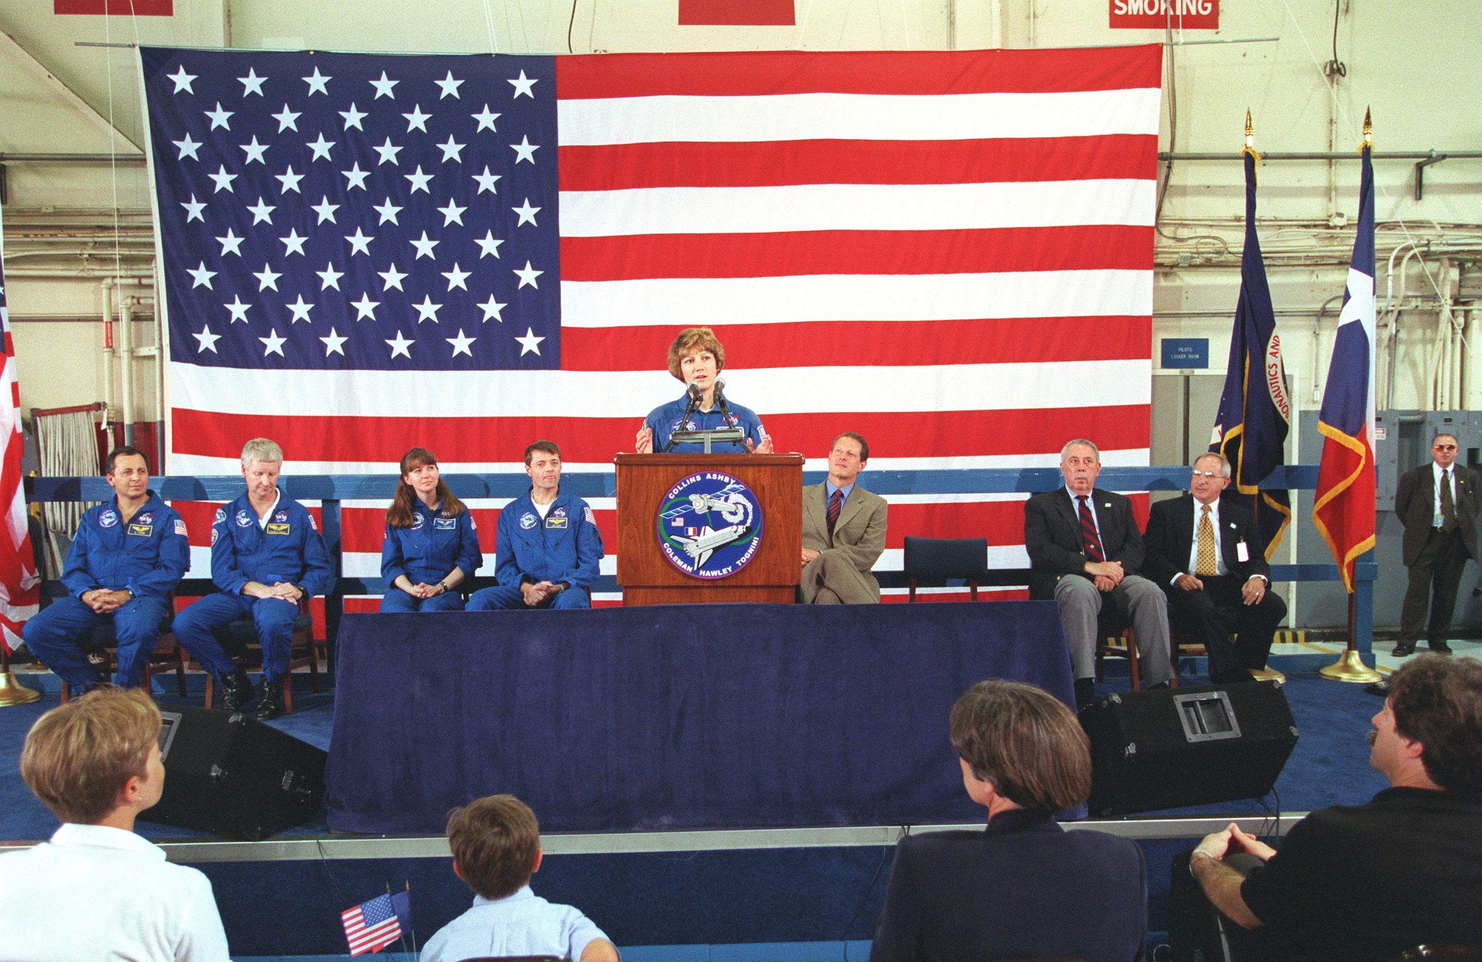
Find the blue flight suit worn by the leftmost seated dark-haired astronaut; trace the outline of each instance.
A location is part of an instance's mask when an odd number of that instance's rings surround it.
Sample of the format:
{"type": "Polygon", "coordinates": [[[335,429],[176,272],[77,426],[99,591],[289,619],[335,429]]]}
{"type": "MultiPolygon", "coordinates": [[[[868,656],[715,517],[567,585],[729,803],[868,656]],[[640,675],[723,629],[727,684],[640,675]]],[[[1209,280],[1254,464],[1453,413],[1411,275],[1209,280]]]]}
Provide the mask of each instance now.
{"type": "Polygon", "coordinates": [[[170,615],[169,593],[190,569],[190,543],[179,513],[153,491],[127,523],[119,498],[87,508],[77,538],[67,551],[59,597],[25,623],[27,646],[73,688],[98,680],[98,671],[76,642],[83,631],[113,621],[119,639],[119,670],[114,685],[138,688],[144,663],[160,639],[160,626],[170,615]],[[99,615],[82,602],[86,591],[133,591],[126,605],[99,615]]]}

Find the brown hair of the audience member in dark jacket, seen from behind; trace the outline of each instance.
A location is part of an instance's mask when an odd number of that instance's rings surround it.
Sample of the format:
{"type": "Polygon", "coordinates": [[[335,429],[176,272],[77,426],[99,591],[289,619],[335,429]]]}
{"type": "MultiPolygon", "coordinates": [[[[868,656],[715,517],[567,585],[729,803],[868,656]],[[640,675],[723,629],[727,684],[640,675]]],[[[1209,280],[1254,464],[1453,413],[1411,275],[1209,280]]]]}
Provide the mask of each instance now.
{"type": "Polygon", "coordinates": [[[1091,740],[1049,692],[987,679],[957,700],[948,723],[974,777],[1011,802],[1058,812],[1091,796],[1091,740]]]}

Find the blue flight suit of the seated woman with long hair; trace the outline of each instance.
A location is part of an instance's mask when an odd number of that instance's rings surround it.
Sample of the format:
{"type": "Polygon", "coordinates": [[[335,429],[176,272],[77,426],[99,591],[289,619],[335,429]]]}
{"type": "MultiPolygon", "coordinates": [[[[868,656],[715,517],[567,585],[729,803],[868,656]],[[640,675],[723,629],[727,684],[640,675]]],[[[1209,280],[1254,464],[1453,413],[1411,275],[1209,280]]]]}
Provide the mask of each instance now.
{"type": "Polygon", "coordinates": [[[419,599],[394,583],[406,575],[412,584],[437,584],[455,565],[464,578],[473,578],[482,563],[479,526],[473,523],[468,508],[449,516],[427,507],[421,498],[412,498],[412,526],[387,525],[381,541],[381,577],[385,578],[381,611],[462,611],[462,594],[458,591],[419,599]]]}

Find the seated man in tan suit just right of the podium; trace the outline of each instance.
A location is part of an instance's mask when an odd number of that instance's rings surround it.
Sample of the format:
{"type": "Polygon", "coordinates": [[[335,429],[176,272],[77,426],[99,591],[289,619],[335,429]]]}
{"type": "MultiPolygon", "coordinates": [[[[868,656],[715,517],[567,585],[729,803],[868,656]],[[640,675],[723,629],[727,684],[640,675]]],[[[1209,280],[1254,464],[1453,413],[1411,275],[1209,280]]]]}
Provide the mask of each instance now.
{"type": "Polygon", "coordinates": [[[834,439],[828,480],[803,488],[805,605],[876,605],[880,583],[870,568],[885,550],[885,498],[855,483],[870,445],[854,431],[834,439]]]}

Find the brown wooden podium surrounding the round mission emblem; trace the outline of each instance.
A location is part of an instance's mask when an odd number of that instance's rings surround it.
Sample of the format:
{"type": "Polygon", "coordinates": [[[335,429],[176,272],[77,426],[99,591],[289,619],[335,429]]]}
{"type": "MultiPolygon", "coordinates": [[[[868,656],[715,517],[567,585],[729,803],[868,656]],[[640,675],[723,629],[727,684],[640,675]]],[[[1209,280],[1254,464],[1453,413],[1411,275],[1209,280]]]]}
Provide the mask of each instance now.
{"type": "Polygon", "coordinates": [[[619,454],[618,584],[624,605],[796,600],[803,553],[803,455],[800,454],[619,454]],[[734,575],[701,578],[676,568],[659,547],[658,514],[665,495],[701,471],[731,474],[756,497],[762,538],[734,575]]]}

